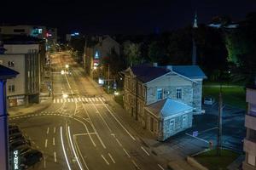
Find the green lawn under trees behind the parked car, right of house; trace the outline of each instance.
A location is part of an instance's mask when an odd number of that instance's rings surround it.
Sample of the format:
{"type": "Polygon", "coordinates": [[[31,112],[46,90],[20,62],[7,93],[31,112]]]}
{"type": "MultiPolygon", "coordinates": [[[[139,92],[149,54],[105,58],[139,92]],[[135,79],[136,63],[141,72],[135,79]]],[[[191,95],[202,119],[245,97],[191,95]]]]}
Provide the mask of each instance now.
{"type": "MultiPolygon", "coordinates": [[[[218,100],[219,87],[218,86],[203,86],[203,97],[212,96],[218,100]]],[[[241,86],[223,87],[224,104],[232,105],[241,109],[247,108],[246,90],[241,86]]]]}

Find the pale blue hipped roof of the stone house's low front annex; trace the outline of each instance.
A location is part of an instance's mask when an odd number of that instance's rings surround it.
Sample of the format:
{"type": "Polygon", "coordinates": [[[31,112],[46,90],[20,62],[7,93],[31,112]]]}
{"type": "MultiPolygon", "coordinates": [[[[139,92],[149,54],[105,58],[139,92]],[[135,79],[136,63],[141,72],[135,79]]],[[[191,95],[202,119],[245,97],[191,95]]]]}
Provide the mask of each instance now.
{"type": "Polygon", "coordinates": [[[147,109],[155,116],[160,116],[162,118],[193,111],[193,107],[190,105],[186,105],[181,101],[170,98],[162,99],[154,104],[148,105],[147,109]]]}

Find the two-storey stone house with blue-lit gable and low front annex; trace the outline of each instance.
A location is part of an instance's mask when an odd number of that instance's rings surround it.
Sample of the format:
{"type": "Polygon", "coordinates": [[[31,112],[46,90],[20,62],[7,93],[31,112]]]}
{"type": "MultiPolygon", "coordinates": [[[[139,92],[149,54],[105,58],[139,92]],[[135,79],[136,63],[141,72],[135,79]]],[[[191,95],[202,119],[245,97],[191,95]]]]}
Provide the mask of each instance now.
{"type": "Polygon", "coordinates": [[[157,139],[192,126],[201,114],[202,81],[197,65],[137,65],[125,71],[125,110],[157,139]]]}

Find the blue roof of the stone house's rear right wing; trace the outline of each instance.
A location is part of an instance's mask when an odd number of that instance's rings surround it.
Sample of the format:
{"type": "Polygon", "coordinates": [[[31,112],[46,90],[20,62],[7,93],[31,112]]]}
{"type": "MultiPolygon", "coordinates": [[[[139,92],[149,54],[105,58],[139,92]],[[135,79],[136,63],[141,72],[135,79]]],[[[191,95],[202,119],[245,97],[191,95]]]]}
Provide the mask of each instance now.
{"type": "Polygon", "coordinates": [[[172,71],[191,79],[207,78],[205,73],[201,71],[201,68],[198,65],[172,65],[172,71]]]}

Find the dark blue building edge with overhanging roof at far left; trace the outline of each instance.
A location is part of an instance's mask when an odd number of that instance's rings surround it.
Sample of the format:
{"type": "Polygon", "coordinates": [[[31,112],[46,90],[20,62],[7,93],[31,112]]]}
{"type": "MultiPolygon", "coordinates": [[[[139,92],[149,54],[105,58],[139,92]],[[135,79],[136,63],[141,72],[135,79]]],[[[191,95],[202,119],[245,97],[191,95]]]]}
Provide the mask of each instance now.
{"type": "Polygon", "coordinates": [[[9,127],[6,109],[6,80],[19,74],[0,65],[0,168],[9,170],[9,127]]]}

